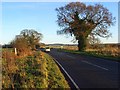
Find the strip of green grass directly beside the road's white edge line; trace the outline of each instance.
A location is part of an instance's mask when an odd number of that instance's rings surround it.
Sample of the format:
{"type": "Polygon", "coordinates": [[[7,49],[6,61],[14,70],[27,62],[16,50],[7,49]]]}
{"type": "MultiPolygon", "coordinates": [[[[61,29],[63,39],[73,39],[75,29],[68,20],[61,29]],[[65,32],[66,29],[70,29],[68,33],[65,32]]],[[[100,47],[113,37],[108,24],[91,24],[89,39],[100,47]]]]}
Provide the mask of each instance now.
{"type": "Polygon", "coordinates": [[[63,74],[56,65],[52,57],[45,54],[48,70],[48,87],[49,88],[69,88],[63,74]]]}

